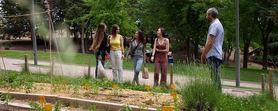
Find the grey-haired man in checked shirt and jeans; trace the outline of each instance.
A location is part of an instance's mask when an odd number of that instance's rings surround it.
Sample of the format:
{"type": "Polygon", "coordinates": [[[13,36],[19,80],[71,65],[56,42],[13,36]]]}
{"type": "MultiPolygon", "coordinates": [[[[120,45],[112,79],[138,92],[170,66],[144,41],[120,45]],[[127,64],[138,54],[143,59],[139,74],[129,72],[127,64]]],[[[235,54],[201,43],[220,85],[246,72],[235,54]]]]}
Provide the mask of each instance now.
{"type": "Polygon", "coordinates": [[[224,29],[220,21],[217,19],[218,11],[215,8],[207,10],[206,18],[210,23],[209,32],[207,34],[207,42],[205,49],[201,55],[201,59],[207,60],[207,64],[212,69],[211,78],[215,79],[221,90],[221,80],[219,75],[220,64],[222,63],[222,44],[224,39],[224,29]]]}

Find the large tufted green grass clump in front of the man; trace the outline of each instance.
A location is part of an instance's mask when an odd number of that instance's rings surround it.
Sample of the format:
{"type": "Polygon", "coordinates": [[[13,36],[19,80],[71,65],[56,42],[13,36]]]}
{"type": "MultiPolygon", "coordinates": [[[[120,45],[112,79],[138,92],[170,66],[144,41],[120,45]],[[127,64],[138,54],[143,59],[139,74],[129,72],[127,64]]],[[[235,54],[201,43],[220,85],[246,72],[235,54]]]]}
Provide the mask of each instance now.
{"type": "MultiPolygon", "coordinates": [[[[178,63],[181,65],[179,74],[185,77],[177,78],[176,84],[180,88],[182,106],[185,110],[213,110],[219,101],[222,91],[215,78],[211,78],[211,68],[203,63],[178,63]]],[[[221,74],[220,74],[221,75],[221,74]]]]}

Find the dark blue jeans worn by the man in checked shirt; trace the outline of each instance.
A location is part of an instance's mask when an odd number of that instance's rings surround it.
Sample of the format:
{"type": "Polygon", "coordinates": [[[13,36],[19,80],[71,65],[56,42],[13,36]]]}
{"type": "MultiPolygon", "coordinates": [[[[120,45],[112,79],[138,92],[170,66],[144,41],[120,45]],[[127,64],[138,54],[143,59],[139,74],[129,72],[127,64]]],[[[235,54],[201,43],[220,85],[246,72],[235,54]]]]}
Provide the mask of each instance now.
{"type": "Polygon", "coordinates": [[[207,58],[207,64],[211,69],[210,77],[212,78],[212,80],[215,80],[215,82],[218,83],[218,88],[221,90],[220,63],[221,59],[214,56],[210,56],[207,58]]]}

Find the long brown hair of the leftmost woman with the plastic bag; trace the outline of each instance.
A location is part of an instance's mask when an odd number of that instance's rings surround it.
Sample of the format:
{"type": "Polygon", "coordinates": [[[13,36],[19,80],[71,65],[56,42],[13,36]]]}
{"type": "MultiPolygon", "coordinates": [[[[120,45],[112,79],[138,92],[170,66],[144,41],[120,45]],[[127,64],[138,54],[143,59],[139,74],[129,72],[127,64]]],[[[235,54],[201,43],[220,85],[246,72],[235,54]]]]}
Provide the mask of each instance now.
{"type": "Polygon", "coordinates": [[[104,27],[106,26],[105,23],[99,23],[99,25],[97,26],[97,29],[96,29],[96,34],[95,34],[95,37],[94,37],[94,42],[93,44],[91,45],[90,49],[91,51],[99,51],[99,46],[102,42],[102,39],[104,38],[103,36],[103,31],[104,31],[104,27]]]}

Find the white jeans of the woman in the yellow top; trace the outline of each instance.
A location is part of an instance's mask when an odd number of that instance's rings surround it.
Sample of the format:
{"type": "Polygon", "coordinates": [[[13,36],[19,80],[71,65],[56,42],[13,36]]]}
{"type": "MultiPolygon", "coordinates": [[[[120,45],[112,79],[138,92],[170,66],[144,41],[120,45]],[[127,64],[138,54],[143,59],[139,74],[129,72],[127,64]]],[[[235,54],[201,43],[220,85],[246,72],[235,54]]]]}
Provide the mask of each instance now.
{"type": "Polygon", "coordinates": [[[121,58],[121,50],[110,51],[110,60],[112,65],[113,80],[123,83],[123,59],[121,58]],[[118,81],[119,80],[119,81],[118,81]]]}

